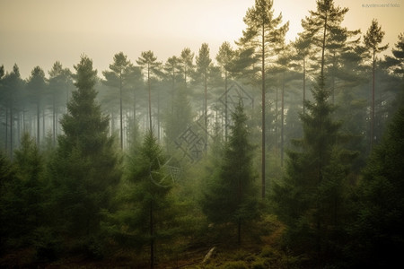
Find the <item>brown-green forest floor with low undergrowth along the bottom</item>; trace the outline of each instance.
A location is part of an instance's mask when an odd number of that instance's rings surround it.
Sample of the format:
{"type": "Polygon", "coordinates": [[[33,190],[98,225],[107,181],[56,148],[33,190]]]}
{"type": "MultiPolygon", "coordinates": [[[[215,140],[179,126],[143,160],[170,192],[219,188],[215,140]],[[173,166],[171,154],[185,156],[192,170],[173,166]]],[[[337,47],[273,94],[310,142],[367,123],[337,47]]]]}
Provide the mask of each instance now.
{"type": "MultiPolygon", "coordinates": [[[[273,216],[249,227],[242,244],[236,239],[203,240],[180,251],[156,254],[154,268],[297,268],[298,260],[280,250],[284,230],[273,216]],[[209,258],[206,255],[211,251],[209,258]]],[[[53,262],[38,263],[33,248],[9,251],[0,257],[0,268],[150,268],[147,251],[142,256],[131,250],[119,250],[100,260],[81,255],[60,257],[53,262]]]]}

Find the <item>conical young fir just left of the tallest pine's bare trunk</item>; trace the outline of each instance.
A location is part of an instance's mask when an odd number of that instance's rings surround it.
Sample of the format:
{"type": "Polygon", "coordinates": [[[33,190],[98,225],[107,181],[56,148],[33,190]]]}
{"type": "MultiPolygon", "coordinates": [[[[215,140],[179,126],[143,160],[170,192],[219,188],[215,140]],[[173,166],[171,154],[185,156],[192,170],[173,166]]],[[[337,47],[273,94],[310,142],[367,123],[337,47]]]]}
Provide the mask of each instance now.
{"type": "Polygon", "coordinates": [[[232,222],[237,227],[237,241],[242,241],[242,224],[258,217],[258,190],[252,169],[253,147],[249,142],[247,116],[242,104],[232,115],[233,126],[224,148],[220,169],[208,180],[202,209],[214,223],[232,222]]]}

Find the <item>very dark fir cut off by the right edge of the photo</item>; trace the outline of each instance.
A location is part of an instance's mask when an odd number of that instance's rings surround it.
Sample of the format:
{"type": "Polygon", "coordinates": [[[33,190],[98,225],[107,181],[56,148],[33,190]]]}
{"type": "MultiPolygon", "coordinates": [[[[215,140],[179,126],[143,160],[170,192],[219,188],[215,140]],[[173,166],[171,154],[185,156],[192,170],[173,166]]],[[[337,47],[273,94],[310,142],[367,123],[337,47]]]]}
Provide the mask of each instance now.
{"type": "Polygon", "coordinates": [[[356,197],[356,221],[347,246],[352,267],[392,268],[404,248],[404,106],[373,148],[356,197]]]}

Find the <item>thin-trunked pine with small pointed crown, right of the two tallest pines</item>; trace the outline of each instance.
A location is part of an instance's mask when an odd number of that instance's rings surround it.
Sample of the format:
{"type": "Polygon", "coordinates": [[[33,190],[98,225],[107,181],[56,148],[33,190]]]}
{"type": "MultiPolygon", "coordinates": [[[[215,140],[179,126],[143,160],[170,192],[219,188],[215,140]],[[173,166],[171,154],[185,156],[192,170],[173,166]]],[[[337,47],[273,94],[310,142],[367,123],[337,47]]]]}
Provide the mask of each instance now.
{"type": "Polygon", "coordinates": [[[389,44],[379,47],[379,44],[382,43],[382,39],[384,37],[384,31],[382,31],[382,27],[379,26],[377,20],[372,21],[372,25],[369,30],[367,30],[364,35],[364,47],[368,49],[372,54],[372,105],[371,105],[371,142],[370,148],[373,148],[373,140],[374,140],[374,87],[375,87],[375,70],[376,70],[376,54],[386,50],[389,47],[389,44]]]}

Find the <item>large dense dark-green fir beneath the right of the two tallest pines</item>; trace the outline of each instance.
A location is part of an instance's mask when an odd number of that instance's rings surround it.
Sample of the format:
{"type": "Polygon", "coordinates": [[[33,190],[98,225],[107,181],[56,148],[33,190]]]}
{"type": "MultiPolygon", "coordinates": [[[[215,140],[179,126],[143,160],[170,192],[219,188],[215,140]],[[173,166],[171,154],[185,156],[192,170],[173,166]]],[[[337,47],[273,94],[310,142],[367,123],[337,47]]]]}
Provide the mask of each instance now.
{"type": "Polygon", "coordinates": [[[340,256],[347,175],[355,157],[341,146],[346,137],[333,120],[329,94],[320,77],[312,90],[314,102],[306,101],[307,111],[301,115],[303,138],[294,141],[300,150],[287,152],[284,182],[275,185],[272,197],[287,227],[285,244],[319,266],[340,256]]]}

